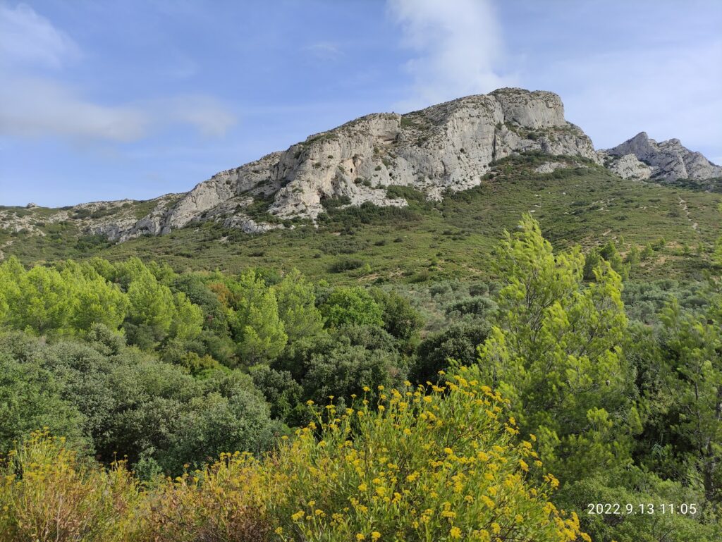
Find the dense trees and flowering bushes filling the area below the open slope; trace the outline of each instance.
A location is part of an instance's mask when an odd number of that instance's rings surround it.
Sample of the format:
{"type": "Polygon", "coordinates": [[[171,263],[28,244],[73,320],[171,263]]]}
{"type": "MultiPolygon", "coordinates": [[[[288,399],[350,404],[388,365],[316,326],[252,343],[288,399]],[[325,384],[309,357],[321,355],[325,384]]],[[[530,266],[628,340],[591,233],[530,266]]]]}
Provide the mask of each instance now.
{"type": "Polygon", "coordinates": [[[525,215],[423,287],[9,257],[1,538],[721,540],[722,238],[683,284],[630,279],[653,250],[525,215]]]}

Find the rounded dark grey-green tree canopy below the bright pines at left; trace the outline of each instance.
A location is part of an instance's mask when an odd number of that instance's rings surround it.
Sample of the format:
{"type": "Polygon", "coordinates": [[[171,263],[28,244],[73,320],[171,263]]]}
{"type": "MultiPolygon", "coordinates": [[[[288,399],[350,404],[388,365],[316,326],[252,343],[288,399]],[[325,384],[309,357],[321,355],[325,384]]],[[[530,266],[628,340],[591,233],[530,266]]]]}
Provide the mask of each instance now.
{"type": "Polygon", "coordinates": [[[143,473],[177,474],[222,450],[267,450],[282,429],[248,375],[214,370],[199,380],[99,328],[93,338],[48,345],[0,336],[4,450],[39,424],[90,441],[107,463],[126,455],[143,473]]]}

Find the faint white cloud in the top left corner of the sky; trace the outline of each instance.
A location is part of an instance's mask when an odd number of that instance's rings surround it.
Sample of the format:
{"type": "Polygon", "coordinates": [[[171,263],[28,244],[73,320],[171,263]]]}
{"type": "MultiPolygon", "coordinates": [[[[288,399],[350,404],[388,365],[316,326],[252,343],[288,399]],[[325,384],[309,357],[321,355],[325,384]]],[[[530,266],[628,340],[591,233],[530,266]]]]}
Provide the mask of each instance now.
{"type": "Polygon", "coordinates": [[[57,69],[77,56],[79,49],[74,41],[30,6],[18,4],[11,8],[0,4],[0,63],[57,69]]]}

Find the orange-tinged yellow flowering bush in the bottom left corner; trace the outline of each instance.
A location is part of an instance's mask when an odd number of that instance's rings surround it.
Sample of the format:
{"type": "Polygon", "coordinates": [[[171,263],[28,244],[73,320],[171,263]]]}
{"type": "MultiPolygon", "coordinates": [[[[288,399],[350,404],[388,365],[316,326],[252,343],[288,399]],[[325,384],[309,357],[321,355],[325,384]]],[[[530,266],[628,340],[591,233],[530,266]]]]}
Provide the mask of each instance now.
{"type": "Polygon", "coordinates": [[[0,540],[128,540],[142,507],[139,486],[122,462],[79,468],[62,438],[35,432],[0,464],[0,540]]]}

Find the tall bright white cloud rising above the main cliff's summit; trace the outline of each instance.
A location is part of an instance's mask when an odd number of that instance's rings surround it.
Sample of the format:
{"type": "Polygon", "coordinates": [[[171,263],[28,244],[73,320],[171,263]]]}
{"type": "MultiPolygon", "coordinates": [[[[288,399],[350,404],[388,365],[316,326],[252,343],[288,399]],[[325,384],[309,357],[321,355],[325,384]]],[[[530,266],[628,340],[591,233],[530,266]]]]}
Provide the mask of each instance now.
{"type": "Polygon", "coordinates": [[[500,24],[488,0],[389,0],[401,45],[414,51],[401,108],[419,108],[513,84],[500,74],[500,24]]]}

